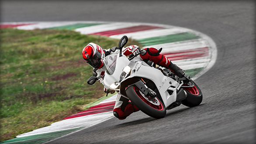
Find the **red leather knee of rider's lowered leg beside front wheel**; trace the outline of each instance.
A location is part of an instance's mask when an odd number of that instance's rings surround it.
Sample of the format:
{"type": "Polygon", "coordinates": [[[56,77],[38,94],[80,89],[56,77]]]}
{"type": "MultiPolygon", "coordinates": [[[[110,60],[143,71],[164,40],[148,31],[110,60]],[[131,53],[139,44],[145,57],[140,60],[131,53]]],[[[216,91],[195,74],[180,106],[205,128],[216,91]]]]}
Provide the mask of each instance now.
{"type": "Polygon", "coordinates": [[[128,103],[128,105],[125,107],[125,110],[122,111],[121,107],[114,108],[113,114],[115,117],[117,117],[119,120],[124,120],[126,117],[128,117],[133,112],[139,111],[135,105],[128,103]]]}

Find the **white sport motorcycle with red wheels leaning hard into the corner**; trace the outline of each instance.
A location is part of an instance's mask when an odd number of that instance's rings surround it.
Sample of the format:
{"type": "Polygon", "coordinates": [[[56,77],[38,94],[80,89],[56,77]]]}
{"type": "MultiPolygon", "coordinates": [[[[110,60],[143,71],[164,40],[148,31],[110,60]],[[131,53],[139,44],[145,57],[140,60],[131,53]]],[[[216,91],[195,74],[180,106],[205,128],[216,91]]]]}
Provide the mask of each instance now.
{"type": "MultiPolygon", "coordinates": [[[[201,104],[202,92],[189,76],[180,78],[152,61],[145,63],[137,57],[139,54],[126,57],[122,48],[127,42],[128,37],[122,37],[118,44],[119,54],[104,57],[106,71],[101,77],[107,89],[115,90],[143,113],[157,119],[165,117],[166,110],[180,104],[187,107],[201,104]]],[[[92,76],[87,83],[94,84],[98,78],[92,76]]]]}

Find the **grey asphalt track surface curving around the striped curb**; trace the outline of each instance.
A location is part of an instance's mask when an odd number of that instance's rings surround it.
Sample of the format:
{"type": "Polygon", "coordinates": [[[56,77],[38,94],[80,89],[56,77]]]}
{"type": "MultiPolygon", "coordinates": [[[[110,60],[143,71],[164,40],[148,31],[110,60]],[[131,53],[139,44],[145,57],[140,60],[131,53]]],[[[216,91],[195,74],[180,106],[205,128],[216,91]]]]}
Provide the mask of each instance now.
{"type": "Polygon", "coordinates": [[[254,1],[3,1],[1,22],[117,21],[160,23],[207,34],[217,45],[214,66],[197,78],[204,98],[154,119],[142,112],[66,135],[48,144],[255,144],[254,1]]]}

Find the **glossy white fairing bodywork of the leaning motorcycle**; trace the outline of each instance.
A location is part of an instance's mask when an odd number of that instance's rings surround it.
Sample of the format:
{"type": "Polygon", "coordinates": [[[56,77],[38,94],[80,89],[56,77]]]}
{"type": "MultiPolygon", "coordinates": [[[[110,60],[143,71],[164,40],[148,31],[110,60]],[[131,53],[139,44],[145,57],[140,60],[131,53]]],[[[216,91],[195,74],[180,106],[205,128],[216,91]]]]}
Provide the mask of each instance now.
{"type": "MultiPolygon", "coordinates": [[[[111,55],[108,55],[105,59],[111,55]]],[[[124,80],[131,77],[144,77],[152,80],[156,84],[166,108],[176,101],[176,89],[180,84],[172,78],[164,76],[160,70],[150,67],[138,57],[130,61],[126,56],[117,56],[114,73],[112,75],[105,73],[104,85],[107,89],[111,84],[119,81],[122,70],[127,65],[131,67],[131,75],[124,80]],[[173,93],[170,95],[167,90],[172,90],[173,93]]]]}

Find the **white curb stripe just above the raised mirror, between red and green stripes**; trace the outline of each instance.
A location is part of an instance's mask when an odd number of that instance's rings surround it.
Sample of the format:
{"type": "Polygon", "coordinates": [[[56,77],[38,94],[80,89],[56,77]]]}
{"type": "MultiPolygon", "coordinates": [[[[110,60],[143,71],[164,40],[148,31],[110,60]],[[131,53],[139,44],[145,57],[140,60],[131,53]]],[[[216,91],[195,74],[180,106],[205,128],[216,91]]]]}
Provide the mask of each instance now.
{"type": "Polygon", "coordinates": [[[136,40],[136,39],[144,39],[144,38],[150,38],[150,37],[166,36],[170,34],[183,33],[183,32],[186,32],[186,31],[173,27],[173,28],[167,28],[167,29],[164,28],[164,29],[145,30],[145,31],[139,31],[134,33],[123,33],[123,34],[113,35],[110,37],[121,39],[121,37],[126,35],[128,38],[136,40]]]}

